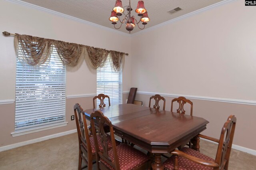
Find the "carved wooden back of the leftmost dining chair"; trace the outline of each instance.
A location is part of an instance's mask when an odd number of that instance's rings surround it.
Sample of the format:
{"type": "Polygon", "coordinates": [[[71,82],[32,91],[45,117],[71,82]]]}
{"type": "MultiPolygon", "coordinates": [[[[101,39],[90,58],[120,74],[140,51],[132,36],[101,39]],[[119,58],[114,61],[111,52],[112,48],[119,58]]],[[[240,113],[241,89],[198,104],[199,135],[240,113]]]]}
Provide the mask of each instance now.
{"type": "Polygon", "coordinates": [[[92,148],[90,144],[89,132],[87,129],[84,110],[78,103],[74,105],[74,115],[76,119],[76,128],[79,142],[78,169],[81,169],[82,159],[86,162],[88,168],[90,168],[89,166],[92,166],[93,160],[92,148]]]}

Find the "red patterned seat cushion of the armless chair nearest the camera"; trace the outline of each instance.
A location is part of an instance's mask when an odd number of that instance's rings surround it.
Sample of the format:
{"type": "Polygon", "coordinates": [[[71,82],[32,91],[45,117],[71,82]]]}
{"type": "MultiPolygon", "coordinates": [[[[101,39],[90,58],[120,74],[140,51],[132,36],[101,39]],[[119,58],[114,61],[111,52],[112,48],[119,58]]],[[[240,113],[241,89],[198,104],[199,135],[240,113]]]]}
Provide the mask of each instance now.
{"type": "MultiPolygon", "coordinates": [[[[138,166],[149,160],[146,154],[124,143],[116,146],[116,150],[120,170],[133,170],[134,168],[137,168],[138,166]]],[[[113,161],[114,154],[112,149],[108,151],[108,155],[110,156],[110,159],[113,161]]],[[[100,159],[100,161],[111,170],[114,170],[114,168],[103,159],[100,159]]]]}

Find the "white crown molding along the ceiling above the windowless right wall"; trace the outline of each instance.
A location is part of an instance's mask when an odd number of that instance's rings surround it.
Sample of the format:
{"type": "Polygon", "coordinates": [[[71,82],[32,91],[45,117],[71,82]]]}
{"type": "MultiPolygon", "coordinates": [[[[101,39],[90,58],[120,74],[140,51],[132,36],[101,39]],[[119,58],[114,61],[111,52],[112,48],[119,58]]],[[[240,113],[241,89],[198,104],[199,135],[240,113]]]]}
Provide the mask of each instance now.
{"type": "Polygon", "coordinates": [[[177,18],[174,18],[174,19],[172,19],[172,20],[163,22],[163,23],[158,24],[158,25],[156,25],[156,26],[152,26],[152,27],[150,27],[150,28],[146,28],[146,29],[144,29],[144,30],[141,30],[140,32],[136,32],[136,33],[134,33],[134,34],[131,34],[131,37],[138,36],[139,34],[142,34],[142,33],[144,33],[144,32],[148,32],[148,31],[154,30],[154,29],[156,29],[156,28],[165,26],[165,25],[167,25],[167,24],[171,24],[171,23],[173,23],[173,22],[176,22],[176,21],[179,21],[179,20],[183,20],[183,19],[188,18],[188,17],[190,17],[190,16],[193,16],[193,15],[196,15],[196,14],[200,14],[201,12],[205,12],[205,11],[211,10],[211,9],[213,9],[213,8],[216,8],[216,7],[219,7],[219,6],[228,4],[228,3],[230,3],[230,2],[234,2],[234,1],[236,1],[236,0],[224,0],[224,1],[218,2],[218,3],[216,3],[216,4],[212,4],[212,5],[210,5],[210,6],[206,6],[206,7],[204,7],[204,8],[201,8],[201,9],[199,9],[199,10],[190,12],[190,13],[185,14],[185,15],[183,15],[183,16],[179,16],[179,17],[177,17],[177,18]]]}

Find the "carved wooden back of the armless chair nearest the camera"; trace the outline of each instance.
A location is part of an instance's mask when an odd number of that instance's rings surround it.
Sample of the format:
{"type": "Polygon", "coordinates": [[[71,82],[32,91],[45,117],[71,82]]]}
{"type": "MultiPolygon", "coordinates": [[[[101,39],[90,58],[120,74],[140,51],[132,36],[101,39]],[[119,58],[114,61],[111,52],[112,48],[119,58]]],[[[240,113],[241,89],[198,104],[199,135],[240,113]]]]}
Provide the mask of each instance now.
{"type": "Polygon", "coordinates": [[[105,166],[101,162],[101,159],[102,159],[106,161],[110,166],[112,166],[115,170],[120,170],[120,164],[117,156],[116,141],[115,141],[112,123],[107,117],[103,115],[101,111],[95,111],[94,113],[91,114],[91,124],[92,124],[92,134],[93,134],[95,149],[96,149],[96,160],[97,160],[96,163],[97,163],[98,169],[109,169],[107,166],[105,166]],[[99,126],[96,126],[95,122],[97,122],[99,126]],[[110,127],[110,137],[111,137],[112,150],[113,150],[113,156],[114,156],[113,162],[110,159],[110,155],[108,154],[109,148],[108,148],[108,143],[106,138],[107,134],[104,130],[104,124],[107,124],[110,127]],[[102,152],[100,152],[99,150],[99,144],[96,136],[97,131],[100,136],[101,145],[103,146],[102,152]]]}

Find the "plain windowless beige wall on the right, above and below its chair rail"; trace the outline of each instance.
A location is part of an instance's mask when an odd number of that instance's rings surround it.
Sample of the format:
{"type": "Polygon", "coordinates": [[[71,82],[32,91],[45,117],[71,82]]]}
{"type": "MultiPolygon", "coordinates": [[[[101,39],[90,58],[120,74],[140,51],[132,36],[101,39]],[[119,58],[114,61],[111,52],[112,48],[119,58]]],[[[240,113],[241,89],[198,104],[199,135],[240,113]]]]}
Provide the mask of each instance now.
{"type": "MultiPolygon", "coordinates": [[[[132,36],[132,86],[140,92],[256,101],[256,8],[244,0],[132,36]]],[[[167,95],[168,96],[168,95],[167,95]]],[[[148,106],[150,95],[137,94],[148,106]]],[[[170,97],[166,97],[170,110],[170,97]]],[[[256,150],[256,106],[192,100],[208,120],[203,133],[219,138],[237,117],[234,144],[256,150]]],[[[177,127],[178,128],[178,127],[177,127]]]]}

